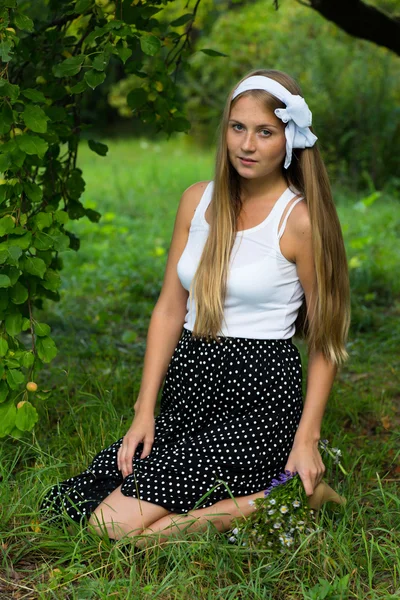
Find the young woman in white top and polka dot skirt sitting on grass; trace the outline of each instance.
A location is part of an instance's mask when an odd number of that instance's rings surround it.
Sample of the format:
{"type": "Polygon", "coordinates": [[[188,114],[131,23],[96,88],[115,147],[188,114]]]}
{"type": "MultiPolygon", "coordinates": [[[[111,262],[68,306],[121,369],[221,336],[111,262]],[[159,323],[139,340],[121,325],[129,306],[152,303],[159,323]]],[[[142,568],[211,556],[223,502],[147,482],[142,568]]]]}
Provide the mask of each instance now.
{"type": "Polygon", "coordinates": [[[229,529],[285,469],[312,497],[350,310],[342,233],[310,125],[285,73],[254,71],[233,88],[214,180],[179,204],[132,425],[54,486],[46,510],[88,518],[113,539],[165,539],[188,516],[190,530],[207,521],[229,529]],[[304,402],[295,333],[309,349],[304,402]]]}

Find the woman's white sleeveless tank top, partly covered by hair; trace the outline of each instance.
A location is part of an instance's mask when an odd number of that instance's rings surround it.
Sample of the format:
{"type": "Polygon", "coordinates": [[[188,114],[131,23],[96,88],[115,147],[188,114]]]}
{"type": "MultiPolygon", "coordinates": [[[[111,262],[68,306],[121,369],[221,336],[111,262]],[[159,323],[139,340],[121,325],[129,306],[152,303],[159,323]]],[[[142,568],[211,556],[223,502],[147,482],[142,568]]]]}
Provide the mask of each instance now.
{"type": "MultiPolygon", "coordinates": [[[[206,242],[209,224],[205,212],[214,183],[201,197],[190,225],[189,237],[177,265],[178,277],[189,291],[206,242]]],[[[224,317],[219,336],[286,339],[295,332],[295,321],[303,303],[304,291],[296,265],[280,251],[279,240],[298,198],[290,206],[278,231],[287,204],[299,192],[287,188],[262,223],[237,232],[227,277],[224,317]]],[[[185,329],[193,330],[195,303],[188,297],[185,329]]]]}

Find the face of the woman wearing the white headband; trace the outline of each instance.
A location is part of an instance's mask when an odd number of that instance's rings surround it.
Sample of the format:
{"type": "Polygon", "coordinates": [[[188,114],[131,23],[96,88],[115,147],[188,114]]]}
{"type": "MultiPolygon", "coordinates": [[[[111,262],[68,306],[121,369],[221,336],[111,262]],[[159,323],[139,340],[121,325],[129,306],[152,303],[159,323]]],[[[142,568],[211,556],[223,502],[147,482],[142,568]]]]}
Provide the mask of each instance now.
{"type": "Polygon", "coordinates": [[[285,123],[251,96],[239,98],[229,115],[228,156],[241,177],[278,174],[286,156],[285,123]]]}

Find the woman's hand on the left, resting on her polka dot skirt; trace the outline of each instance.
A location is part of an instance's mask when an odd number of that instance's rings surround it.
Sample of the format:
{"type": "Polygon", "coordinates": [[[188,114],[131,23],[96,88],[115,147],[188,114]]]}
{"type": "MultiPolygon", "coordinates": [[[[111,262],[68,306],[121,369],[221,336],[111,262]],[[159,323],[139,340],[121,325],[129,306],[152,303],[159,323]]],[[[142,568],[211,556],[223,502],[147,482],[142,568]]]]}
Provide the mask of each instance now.
{"type": "Polygon", "coordinates": [[[138,412],[132,421],[117,454],[118,469],[125,479],[133,471],[133,457],[137,446],[143,442],[140,458],[146,458],[151,452],[155,435],[155,418],[153,413],[138,412]]]}

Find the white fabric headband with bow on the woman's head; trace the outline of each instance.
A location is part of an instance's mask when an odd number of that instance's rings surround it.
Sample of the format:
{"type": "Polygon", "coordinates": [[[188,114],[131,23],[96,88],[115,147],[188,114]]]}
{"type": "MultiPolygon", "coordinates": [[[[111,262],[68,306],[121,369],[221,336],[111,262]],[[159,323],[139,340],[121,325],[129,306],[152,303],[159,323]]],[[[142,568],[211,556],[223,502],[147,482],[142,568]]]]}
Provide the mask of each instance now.
{"type": "Polygon", "coordinates": [[[285,127],[286,158],[284,164],[285,169],[287,169],[292,161],[292,148],[310,148],[314,146],[318,139],[309,129],[312,123],[311,111],[302,96],[291,94],[275,79],[263,75],[248,77],[234,90],[232,100],[248,90],[265,90],[286,104],[286,108],[276,108],[274,113],[284,123],[287,123],[285,127]]]}

